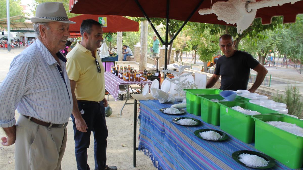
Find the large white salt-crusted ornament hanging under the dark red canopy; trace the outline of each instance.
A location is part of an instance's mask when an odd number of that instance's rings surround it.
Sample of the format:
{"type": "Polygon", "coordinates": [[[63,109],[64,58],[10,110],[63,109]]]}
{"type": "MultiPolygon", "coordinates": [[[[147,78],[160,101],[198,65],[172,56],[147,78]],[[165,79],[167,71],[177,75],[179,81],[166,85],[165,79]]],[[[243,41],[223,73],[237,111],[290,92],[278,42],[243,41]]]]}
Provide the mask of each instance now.
{"type": "Polygon", "coordinates": [[[238,34],[242,34],[255,19],[259,8],[295,3],[301,0],[229,0],[228,2],[215,2],[211,8],[199,10],[200,15],[215,13],[218,20],[223,20],[227,24],[237,24],[238,34]]]}

